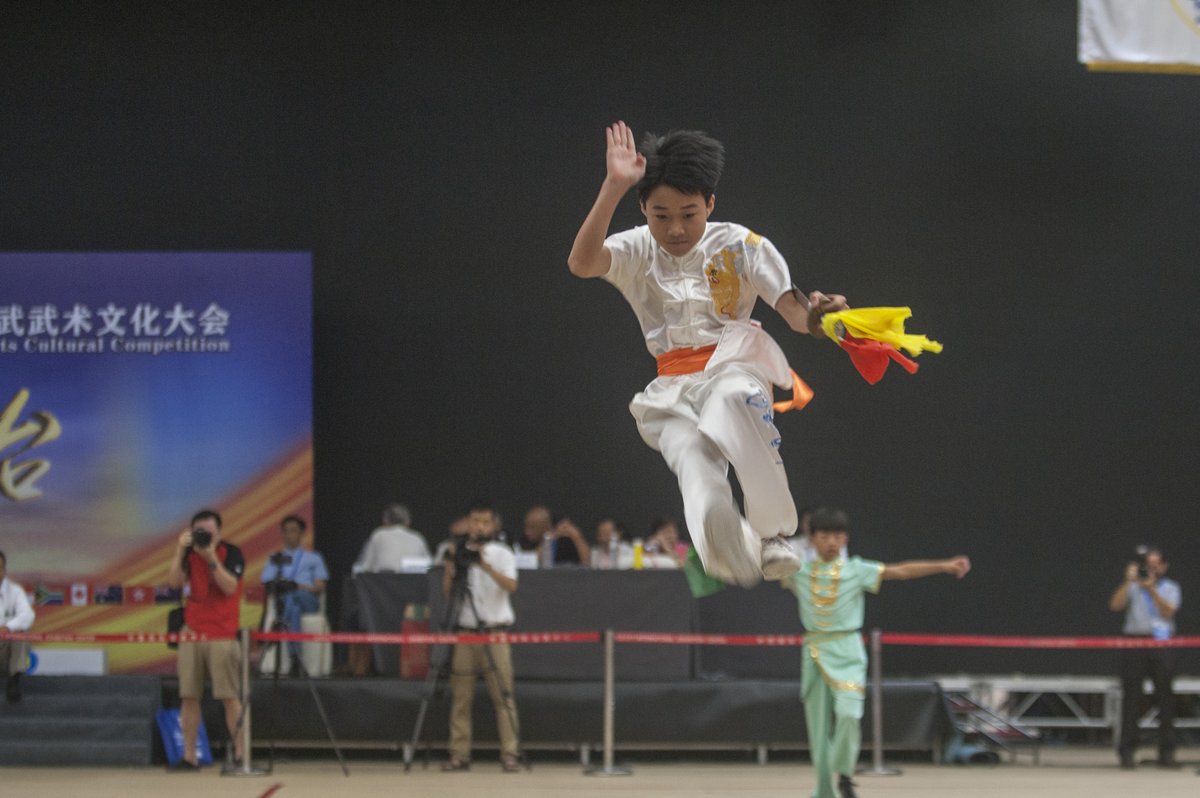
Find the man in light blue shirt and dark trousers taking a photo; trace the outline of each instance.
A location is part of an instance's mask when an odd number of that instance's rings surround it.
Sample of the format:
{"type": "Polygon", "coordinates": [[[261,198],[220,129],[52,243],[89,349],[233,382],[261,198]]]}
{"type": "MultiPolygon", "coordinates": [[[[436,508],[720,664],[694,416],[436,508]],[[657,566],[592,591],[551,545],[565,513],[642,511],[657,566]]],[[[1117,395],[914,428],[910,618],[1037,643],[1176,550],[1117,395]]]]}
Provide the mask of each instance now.
{"type": "MultiPolygon", "coordinates": [[[[1139,546],[1136,560],[1126,566],[1124,581],[1112,592],[1109,610],[1124,612],[1123,634],[1148,640],[1175,636],[1175,613],[1182,594],[1177,582],[1164,576],[1166,559],[1158,546],[1139,546]]],[[[1138,719],[1142,712],[1142,680],[1154,683],[1158,702],[1158,764],[1178,767],[1175,760],[1175,652],[1170,648],[1129,648],[1121,652],[1121,767],[1138,767],[1138,719]]]]}

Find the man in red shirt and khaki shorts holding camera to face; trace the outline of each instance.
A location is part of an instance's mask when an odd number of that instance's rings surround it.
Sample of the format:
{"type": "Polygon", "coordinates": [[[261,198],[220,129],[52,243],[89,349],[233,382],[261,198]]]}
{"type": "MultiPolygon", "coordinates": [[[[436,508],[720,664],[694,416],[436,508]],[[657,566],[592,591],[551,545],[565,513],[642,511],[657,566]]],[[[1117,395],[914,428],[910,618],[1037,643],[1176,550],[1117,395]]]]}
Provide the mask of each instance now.
{"type": "Polygon", "coordinates": [[[241,652],[238,622],[241,610],[241,575],[246,568],[241,550],[221,540],[221,516],[200,510],[188,529],[180,533],[167,572],[174,588],[190,587],[184,607],[184,632],[224,640],[179,643],[179,725],[184,732],[184,758],[175,766],[194,770],[196,737],[200,727],[200,698],[204,677],[212,679],[212,697],[224,704],[226,725],[233,738],[234,761],[241,762],[238,698],[241,652]]]}

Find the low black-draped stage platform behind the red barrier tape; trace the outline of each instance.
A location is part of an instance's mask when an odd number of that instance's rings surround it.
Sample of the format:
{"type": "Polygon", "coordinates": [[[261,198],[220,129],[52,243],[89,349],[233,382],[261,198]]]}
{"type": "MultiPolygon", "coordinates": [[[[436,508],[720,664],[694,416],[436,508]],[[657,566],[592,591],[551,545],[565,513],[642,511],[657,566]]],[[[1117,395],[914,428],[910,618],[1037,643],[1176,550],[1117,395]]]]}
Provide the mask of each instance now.
{"type": "MultiPolygon", "coordinates": [[[[347,748],[400,750],[412,737],[424,682],[389,678],[314,679],[338,743],[347,748]]],[[[163,680],[163,702],[175,701],[174,679],[163,680]]],[[[271,734],[283,746],[328,746],[329,740],[302,678],[270,679],[252,686],[254,745],[271,734]],[[274,715],[272,715],[274,713],[274,715]],[[274,716],[274,721],[272,721],[274,716]],[[274,722],[274,732],[272,730],[274,722]]],[[[516,685],[523,743],[527,750],[599,750],[601,684],[524,680],[516,685]]],[[[799,683],[785,680],[634,682],[616,688],[617,749],[756,749],[808,748],[799,683]]],[[[864,715],[864,750],[870,749],[870,697],[864,715]]],[[[883,745],[888,750],[928,751],[936,756],[952,732],[941,688],[934,682],[884,682],[883,745]]],[[[431,702],[424,742],[445,746],[449,691],[431,702]]],[[[475,696],[478,748],[496,748],[496,716],[480,682],[475,696]]],[[[222,728],[220,704],[205,702],[210,737],[222,728]]],[[[214,740],[216,742],[216,740],[214,740]]]]}

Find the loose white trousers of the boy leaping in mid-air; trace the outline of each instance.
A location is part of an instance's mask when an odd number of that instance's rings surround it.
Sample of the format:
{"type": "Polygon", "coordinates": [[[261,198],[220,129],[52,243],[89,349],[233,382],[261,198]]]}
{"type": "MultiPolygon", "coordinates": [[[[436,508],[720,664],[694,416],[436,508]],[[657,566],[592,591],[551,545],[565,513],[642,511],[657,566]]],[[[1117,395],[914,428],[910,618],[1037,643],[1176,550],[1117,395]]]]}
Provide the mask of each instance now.
{"type": "MultiPolygon", "coordinates": [[[[762,578],[762,539],[796,532],[796,503],[779,456],[780,436],[770,386],[750,370],[726,365],[715,373],[670,378],[652,406],[640,394],[634,415],[648,444],[679,479],[684,518],[704,570],[750,586],[762,578]],[[738,512],[728,481],[733,466],[745,498],[738,512]]],[[[656,380],[660,382],[660,380],[656,380]]]]}

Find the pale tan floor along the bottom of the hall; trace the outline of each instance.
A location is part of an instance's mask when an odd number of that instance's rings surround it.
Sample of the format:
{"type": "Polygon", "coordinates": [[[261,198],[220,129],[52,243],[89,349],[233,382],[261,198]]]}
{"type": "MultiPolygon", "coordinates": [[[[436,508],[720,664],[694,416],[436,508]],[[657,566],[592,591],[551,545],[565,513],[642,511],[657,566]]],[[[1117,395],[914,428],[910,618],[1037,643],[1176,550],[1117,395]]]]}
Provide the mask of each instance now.
{"type": "MultiPolygon", "coordinates": [[[[1103,798],[1153,796],[1195,798],[1200,794],[1200,749],[1183,749],[1181,770],[1144,767],[1124,772],[1115,767],[1108,749],[1046,749],[1042,764],[1028,758],[1018,764],[934,767],[902,763],[899,776],[858,776],[862,798],[917,798],[918,796],[1045,796],[1048,798],[1103,798]]],[[[530,773],[500,774],[491,762],[479,762],[470,773],[442,774],[414,768],[406,775],[398,764],[350,761],[350,776],[337,762],[281,763],[271,775],[222,778],[208,770],[168,774],[160,768],[0,768],[4,796],[88,796],[188,798],[260,798],[277,787],[276,798],[312,796],[430,796],[463,798],[550,798],[552,796],[619,794],[623,798],[695,798],[697,796],[750,796],[800,798],[811,793],[812,770],[796,762],[756,764],[661,763],[637,764],[630,776],[586,776],[577,766],[542,764],[530,773]]]]}

